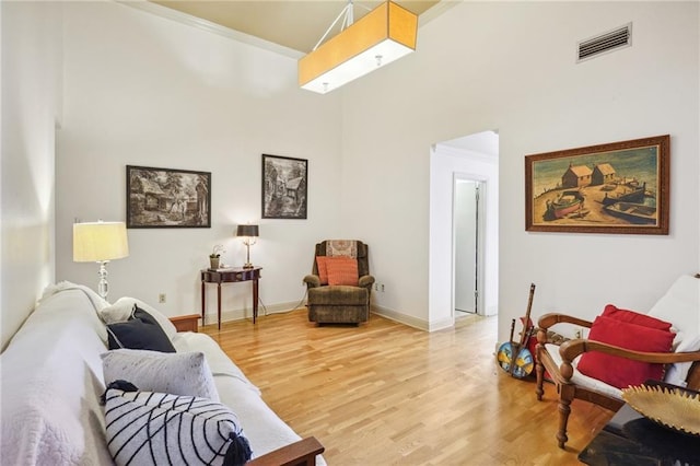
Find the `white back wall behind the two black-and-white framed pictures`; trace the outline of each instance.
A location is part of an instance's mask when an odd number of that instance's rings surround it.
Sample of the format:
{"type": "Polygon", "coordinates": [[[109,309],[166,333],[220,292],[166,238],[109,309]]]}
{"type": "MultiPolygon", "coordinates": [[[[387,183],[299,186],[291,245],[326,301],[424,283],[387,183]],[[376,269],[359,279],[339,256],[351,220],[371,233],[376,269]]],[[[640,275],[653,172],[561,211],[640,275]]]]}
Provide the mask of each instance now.
{"type": "MultiPolygon", "coordinates": [[[[340,235],[339,98],[300,90],[294,59],[124,4],[66,5],[65,34],[57,278],[96,284],[96,265],[72,263],[71,224],[125,220],[127,164],[195,170],[212,173],[212,228],[129,230],[130,256],[108,266],[110,301],[136,295],[168,315],[199,312],[212,246],[243,265],[233,231],[252,221],[262,303],[299,303],[314,244],[340,235]],[[260,220],[262,153],[308,160],[307,220],[260,220]]],[[[250,283],[222,295],[224,311],[250,316],[250,283]]],[[[215,313],[215,287],[207,299],[215,313]]]]}

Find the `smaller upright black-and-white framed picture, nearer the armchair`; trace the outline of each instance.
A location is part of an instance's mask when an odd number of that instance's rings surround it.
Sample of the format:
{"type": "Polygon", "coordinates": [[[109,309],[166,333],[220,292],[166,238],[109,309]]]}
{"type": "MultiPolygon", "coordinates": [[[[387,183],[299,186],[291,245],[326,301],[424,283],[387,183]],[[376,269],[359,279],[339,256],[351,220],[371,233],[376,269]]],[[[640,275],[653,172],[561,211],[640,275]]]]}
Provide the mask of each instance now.
{"type": "Polygon", "coordinates": [[[308,161],[262,154],[262,218],[305,219],[308,161]]]}

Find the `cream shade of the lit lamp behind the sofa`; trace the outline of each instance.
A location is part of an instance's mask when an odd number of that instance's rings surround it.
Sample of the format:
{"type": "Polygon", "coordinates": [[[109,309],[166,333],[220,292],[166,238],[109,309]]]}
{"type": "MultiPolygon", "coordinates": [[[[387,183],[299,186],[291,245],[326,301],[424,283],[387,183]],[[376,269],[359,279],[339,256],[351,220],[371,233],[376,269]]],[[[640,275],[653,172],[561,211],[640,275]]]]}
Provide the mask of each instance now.
{"type": "Polygon", "coordinates": [[[77,263],[120,259],[129,255],[124,222],[73,224],[73,260],[77,263]]]}

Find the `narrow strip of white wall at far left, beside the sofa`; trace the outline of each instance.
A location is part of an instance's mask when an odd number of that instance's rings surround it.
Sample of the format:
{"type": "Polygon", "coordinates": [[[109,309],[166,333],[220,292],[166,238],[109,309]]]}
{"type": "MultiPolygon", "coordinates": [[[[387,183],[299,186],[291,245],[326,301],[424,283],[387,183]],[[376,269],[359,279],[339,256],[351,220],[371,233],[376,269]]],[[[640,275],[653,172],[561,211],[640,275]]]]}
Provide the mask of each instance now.
{"type": "Polygon", "coordinates": [[[0,349],[54,280],[54,148],[60,112],[60,5],[0,2],[0,349]]]}

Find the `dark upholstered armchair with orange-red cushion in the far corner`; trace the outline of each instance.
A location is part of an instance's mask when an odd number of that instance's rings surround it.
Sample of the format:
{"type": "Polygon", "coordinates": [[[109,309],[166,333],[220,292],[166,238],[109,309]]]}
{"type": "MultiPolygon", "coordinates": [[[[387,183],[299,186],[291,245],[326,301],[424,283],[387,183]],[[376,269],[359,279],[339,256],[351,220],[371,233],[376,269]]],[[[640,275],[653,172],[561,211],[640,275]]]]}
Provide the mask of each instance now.
{"type": "Polygon", "coordinates": [[[316,244],[308,291],[308,321],[318,324],[360,324],[370,318],[368,245],[354,240],[326,240],[316,244]]]}

